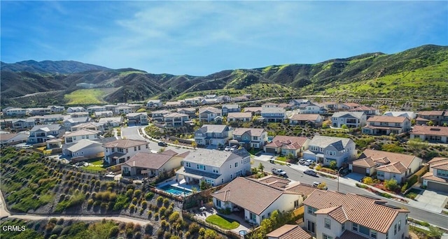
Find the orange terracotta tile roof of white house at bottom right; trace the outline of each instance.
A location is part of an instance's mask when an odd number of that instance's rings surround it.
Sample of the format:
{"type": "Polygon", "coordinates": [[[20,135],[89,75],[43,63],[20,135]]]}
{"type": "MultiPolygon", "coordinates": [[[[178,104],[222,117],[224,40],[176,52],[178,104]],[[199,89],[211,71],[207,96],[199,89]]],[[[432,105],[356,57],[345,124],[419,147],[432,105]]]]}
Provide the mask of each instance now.
{"type": "MultiPolygon", "coordinates": [[[[409,211],[389,208],[386,205],[381,205],[382,203],[384,201],[356,194],[341,194],[336,191],[322,190],[314,191],[304,201],[304,205],[317,210],[342,206],[349,221],[386,233],[398,213],[409,211]]],[[[339,217],[337,215],[340,215],[340,212],[335,212],[333,216],[339,217]]]]}

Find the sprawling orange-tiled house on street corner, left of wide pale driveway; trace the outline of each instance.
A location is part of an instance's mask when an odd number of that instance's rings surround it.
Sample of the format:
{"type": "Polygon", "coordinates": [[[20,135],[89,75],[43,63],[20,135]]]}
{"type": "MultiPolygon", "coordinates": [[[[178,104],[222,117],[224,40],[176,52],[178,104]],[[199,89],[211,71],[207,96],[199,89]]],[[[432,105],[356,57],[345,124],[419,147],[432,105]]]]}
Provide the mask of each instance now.
{"type": "Polygon", "coordinates": [[[350,162],[349,171],[367,176],[377,173],[379,180],[393,178],[397,182],[403,182],[419,170],[421,162],[422,159],[414,155],[364,150],[357,160],[350,162]]]}

